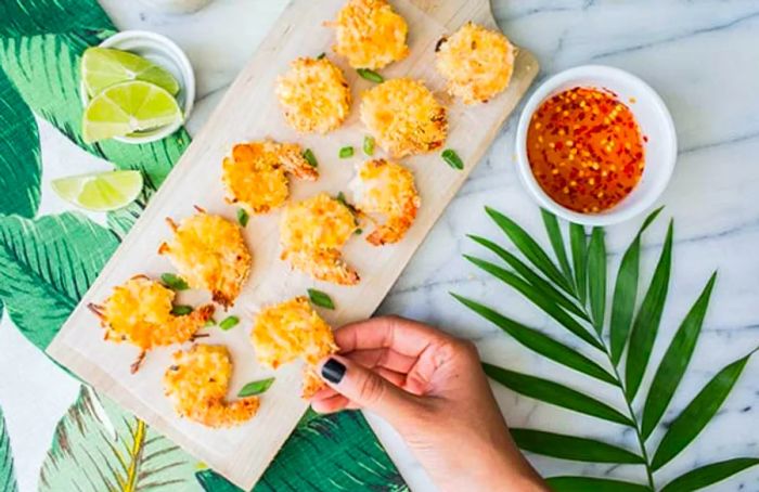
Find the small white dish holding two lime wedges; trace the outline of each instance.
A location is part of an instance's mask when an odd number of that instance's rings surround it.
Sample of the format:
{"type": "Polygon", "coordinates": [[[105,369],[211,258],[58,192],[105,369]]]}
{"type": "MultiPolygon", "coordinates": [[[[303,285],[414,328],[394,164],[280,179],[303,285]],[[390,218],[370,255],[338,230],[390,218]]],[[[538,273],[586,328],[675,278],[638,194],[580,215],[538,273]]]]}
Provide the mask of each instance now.
{"type": "MultiPolygon", "coordinates": [[[[182,120],[167,127],[154,130],[139,131],[126,137],[114,137],[113,140],[124,143],[150,143],[164,139],[188,120],[192,106],[195,102],[195,74],[190,65],[190,60],[184,52],[169,38],[145,30],[125,30],[118,33],[100,43],[101,48],[113,48],[115,50],[129,51],[156,65],[162,66],[175,76],[179,82],[179,93],[177,102],[182,108],[182,120]]],[[[87,106],[90,96],[85,85],[79,87],[81,103],[87,106]]]]}

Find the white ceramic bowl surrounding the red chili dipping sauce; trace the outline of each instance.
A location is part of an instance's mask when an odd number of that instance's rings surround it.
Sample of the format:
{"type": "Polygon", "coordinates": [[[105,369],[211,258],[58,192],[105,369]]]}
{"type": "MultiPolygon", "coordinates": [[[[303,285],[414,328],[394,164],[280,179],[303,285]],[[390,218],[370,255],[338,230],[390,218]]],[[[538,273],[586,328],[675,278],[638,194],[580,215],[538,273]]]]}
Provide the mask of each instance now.
{"type": "Polygon", "coordinates": [[[538,204],[573,222],[609,225],[623,222],[649,208],[661,195],[674,169],[678,139],[672,117],[661,98],[643,80],[619,68],[583,65],[561,72],[545,80],[530,96],[519,117],[516,131],[516,156],[523,183],[538,204]],[[527,159],[527,130],[532,114],[552,95],[575,87],[608,89],[632,111],[644,144],[645,167],[638,186],[620,203],[600,213],[580,213],[554,202],[538,184],[527,159]],[[634,101],[634,102],[631,102],[634,101]]]}

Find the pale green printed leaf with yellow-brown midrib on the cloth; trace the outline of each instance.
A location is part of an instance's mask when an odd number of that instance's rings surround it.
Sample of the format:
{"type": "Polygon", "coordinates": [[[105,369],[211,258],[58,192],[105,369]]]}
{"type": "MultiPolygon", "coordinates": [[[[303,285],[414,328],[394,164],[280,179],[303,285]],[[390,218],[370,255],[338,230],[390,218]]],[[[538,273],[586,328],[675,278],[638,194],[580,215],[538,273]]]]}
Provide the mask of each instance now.
{"type": "Polygon", "coordinates": [[[197,462],[144,422],[81,387],[42,463],[39,490],[200,490],[197,462]]]}

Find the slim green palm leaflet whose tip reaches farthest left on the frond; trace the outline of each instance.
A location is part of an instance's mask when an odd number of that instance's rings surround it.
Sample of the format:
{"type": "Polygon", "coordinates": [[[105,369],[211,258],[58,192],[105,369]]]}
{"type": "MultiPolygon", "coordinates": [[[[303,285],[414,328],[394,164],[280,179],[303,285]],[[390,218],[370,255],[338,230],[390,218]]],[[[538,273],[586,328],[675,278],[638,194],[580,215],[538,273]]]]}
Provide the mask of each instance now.
{"type": "Polygon", "coordinates": [[[603,367],[569,347],[559,344],[537,329],[530,328],[510,318],[506,318],[487,306],[480,305],[479,302],[453,293],[451,293],[451,295],[461,303],[503,329],[505,333],[511,335],[512,338],[528,349],[540,353],[554,362],[571,367],[575,371],[579,371],[604,383],[609,383],[612,385],[617,384],[614,376],[607,373],[603,367]]]}

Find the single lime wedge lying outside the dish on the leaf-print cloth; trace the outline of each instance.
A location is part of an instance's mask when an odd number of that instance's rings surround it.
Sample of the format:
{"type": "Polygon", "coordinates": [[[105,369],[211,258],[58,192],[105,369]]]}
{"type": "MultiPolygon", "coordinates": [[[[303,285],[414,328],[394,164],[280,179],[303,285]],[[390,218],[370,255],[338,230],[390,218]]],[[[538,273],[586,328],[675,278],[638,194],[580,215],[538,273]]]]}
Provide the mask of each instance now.
{"type": "Polygon", "coordinates": [[[92,211],[108,211],[132,203],[142,191],[140,171],[106,171],[72,176],[50,182],[66,202],[92,211]]]}

